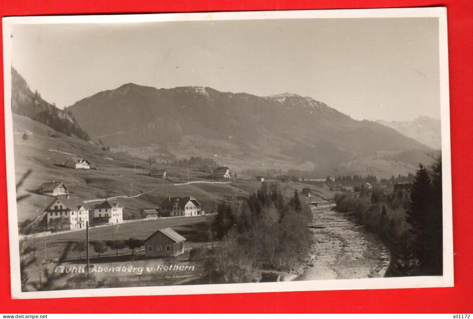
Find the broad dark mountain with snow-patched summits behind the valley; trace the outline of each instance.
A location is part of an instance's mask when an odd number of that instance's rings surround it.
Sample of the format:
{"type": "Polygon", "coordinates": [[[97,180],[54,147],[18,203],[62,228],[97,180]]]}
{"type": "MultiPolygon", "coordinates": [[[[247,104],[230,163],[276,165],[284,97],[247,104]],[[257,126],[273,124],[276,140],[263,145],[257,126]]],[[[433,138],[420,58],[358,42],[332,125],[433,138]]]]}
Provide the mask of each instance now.
{"type": "Polygon", "coordinates": [[[290,93],[258,97],[210,87],[127,83],[81,99],[67,111],[111,147],[160,145],[176,156],[191,156],[191,150],[199,156],[230,154],[228,161],[247,159],[248,165],[255,158],[279,165],[289,157],[293,166],[337,167],[378,151],[430,151],[382,124],[354,120],[290,93]]]}

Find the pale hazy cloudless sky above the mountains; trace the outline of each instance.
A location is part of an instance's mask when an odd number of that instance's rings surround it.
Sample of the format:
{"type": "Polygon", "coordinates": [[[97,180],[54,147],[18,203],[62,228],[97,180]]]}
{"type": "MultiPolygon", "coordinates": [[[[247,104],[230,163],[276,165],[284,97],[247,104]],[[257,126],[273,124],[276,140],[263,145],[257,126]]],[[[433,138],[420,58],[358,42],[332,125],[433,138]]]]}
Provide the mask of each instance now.
{"type": "Polygon", "coordinates": [[[133,82],[296,93],[356,119],[440,117],[437,18],[23,25],[12,54],[58,107],[133,82]]]}

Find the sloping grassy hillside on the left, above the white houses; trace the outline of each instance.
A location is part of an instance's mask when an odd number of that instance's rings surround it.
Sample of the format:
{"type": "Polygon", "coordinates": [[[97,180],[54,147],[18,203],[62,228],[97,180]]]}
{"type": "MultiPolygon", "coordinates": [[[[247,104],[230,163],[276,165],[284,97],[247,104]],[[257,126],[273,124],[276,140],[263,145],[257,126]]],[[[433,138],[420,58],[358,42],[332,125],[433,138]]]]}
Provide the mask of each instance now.
{"type": "MultiPolygon", "coordinates": [[[[158,207],[168,195],[191,195],[199,200],[204,211],[210,212],[219,201],[247,196],[261,184],[255,180],[236,179],[233,183],[225,185],[176,185],[187,181],[210,180],[201,172],[154,165],[156,168],[165,168],[172,177],[163,183],[162,179],[147,176],[149,164],[144,159],[124,152],[102,151],[101,146],[96,143],[58,133],[25,116],[14,114],[13,124],[17,180],[28,169],[32,169],[24,189],[18,194],[29,194],[29,197],[18,204],[19,222],[34,219],[42,213],[45,205],[52,201],[52,197],[35,194],[35,190],[46,181],[62,181],[73,193],[71,196],[78,196],[84,200],[149,192],[139,197],[119,200],[119,203],[125,206],[125,218],[139,213],[140,209],[158,207]],[[26,131],[29,133],[25,134],[26,131]],[[24,139],[24,136],[27,138],[24,139]],[[62,167],[61,164],[70,157],[64,153],[83,157],[96,169],[79,170],[62,167]]],[[[291,183],[288,185],[287,195],[291,195],[294,189],[300,191],[305,186],[307,185],[291,183]]],[[[318,190],[320,199],[332,197],[332,193],[318,190]]]]}

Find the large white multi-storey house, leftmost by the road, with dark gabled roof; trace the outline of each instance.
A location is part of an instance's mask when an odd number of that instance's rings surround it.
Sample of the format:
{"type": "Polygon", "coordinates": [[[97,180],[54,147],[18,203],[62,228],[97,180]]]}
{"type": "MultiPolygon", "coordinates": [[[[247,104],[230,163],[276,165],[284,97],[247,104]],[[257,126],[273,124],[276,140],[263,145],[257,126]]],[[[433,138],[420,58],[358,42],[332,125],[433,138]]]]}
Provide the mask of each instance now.
{"type": "Polygon", "coordinates": [[[49,204],[46,213],[48,229],[85,229],[90,208],[78,197],[58,197],[49,204]]]}

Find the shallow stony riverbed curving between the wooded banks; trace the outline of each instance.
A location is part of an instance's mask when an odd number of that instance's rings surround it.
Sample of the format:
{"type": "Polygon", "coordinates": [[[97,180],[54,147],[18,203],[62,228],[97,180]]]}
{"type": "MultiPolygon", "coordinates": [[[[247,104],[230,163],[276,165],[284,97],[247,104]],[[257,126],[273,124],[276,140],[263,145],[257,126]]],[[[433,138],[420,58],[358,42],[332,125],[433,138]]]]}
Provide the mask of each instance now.
{"type": "Polygon", "coordinates": [[[365,226],[355,224],[350,214],[332,208],[313,208],[313,260],[296,280],[384,277],[389,251],[365,226]]]}

